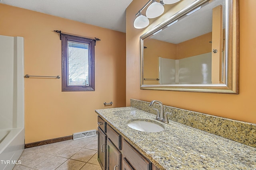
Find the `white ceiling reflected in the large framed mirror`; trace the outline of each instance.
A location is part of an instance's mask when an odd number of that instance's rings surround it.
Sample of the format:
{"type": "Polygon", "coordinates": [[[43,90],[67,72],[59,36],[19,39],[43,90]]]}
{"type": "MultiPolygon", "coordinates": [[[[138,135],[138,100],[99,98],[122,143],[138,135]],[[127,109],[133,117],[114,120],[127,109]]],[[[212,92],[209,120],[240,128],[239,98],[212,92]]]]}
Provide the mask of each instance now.
{"type": "MultiPolygon", "coordinates": [[[[219,5],[224,7],[223,16],[225,16],[224,0],[211,1],[210,3],[204,4],[200,10],[193,14],[178,19],[177,23],[163,29],[151,38],[178,44],[210,33],[212,32],[212,9],[219,5]]],[[[223,26],[225,27],[225,20],[223,20],[223,26]]]]}

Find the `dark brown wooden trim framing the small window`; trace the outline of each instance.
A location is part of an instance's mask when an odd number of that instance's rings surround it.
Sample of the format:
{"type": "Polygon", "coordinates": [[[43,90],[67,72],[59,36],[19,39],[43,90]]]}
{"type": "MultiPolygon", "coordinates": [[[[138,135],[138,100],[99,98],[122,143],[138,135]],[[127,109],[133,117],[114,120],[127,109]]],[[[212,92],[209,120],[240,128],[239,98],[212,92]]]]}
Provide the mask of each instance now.
{"type": "Polygon", "coordinates": [[[95,40],[74,35],[62,34],[62,92],[95,91],[95,40]],[[68,41],[89,43],[89,86],[68,86],[68,41]]]}

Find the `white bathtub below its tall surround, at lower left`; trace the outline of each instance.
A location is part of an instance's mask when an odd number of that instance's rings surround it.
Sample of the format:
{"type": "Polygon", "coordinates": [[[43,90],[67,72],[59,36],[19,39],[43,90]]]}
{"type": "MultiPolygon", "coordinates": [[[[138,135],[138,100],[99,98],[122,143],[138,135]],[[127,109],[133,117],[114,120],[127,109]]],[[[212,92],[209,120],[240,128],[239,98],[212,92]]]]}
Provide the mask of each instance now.
{"type": "Polygon", "coordinates": [[[12,170],[24,150],[24,128],[0,130],[0,170],[12,170]]]}

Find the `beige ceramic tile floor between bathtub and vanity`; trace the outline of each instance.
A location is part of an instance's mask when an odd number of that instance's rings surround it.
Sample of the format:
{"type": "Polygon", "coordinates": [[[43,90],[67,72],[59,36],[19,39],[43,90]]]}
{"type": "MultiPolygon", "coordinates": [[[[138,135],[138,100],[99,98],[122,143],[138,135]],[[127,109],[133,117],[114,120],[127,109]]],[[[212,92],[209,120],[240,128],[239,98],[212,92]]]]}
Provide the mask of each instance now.
{"type": "Polygon", "coordinates": [[[13,170],[101,170],[97,136],[24,149],[13,170]]]}

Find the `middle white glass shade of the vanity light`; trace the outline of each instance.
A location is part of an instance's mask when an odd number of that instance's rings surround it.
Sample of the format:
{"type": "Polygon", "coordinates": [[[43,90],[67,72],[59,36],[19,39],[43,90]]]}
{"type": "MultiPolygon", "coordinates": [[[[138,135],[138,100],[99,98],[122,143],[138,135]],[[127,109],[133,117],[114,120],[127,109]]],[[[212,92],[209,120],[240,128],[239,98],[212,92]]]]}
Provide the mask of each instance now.
{"type": "Polygon", "coordinates": [[[148,9],[146,10],[146,16],[148,18],[156,18],[164,13],[164,6],[160,4],[159,2],[156,2],[156,0],[153,0],[153,2],[148,6],[148,9]]]}

